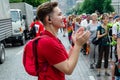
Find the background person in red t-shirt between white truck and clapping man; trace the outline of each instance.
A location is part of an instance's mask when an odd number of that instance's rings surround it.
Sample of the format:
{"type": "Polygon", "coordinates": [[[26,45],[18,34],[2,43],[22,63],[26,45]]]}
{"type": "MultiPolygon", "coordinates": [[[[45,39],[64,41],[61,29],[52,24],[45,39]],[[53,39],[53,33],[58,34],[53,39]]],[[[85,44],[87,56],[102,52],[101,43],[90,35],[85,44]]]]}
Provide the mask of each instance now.
{"type": "Polygon", "coordinates": [[[42,22],[38,19],[38,17],[36,17],[36,18],[34,19],[34,21],[31,23],[30,29],[31,29],[33,26],[35,26],[35,31],[36,31],[35,37],[40,36],[40,33],[41,33],[42,31],[44,31],[44,26],[43,26],[42,22]]]}

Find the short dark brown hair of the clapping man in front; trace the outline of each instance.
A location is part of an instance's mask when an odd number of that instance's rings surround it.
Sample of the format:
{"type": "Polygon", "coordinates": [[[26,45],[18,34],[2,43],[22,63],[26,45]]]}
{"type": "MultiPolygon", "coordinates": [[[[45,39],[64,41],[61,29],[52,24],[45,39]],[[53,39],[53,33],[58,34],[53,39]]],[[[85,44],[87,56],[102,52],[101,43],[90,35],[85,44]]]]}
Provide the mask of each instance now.
{"type": "Polygon", "coordinates": [[[53,12],[53,9],[58,6],[58,2],[46,2],[38,6],[37,16],[43,24],[45,24],[45,17],[53,12]]]}

